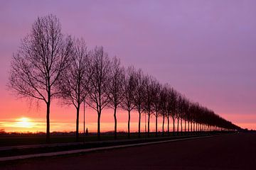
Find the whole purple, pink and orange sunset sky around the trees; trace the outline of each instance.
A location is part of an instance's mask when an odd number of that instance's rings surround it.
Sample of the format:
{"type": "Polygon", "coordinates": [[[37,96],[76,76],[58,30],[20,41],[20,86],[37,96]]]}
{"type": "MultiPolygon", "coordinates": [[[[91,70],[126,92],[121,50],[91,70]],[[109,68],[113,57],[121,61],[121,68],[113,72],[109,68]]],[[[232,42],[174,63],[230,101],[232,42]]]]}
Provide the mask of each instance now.
{"type": "MultiPolygon", "coordinates": [[[[38,16],[52,13],[63,33],[84,38],[90,48],[102,45],[125,67],[141,68],[223,118],[256,130],[255,8],[254,0],[1,0],[0,129],[46,130],[45,103],[16,98],[6,84],[21,39],[38,16]]],[[[102,113],[103,131],[114,128],[112,112],[102,113]]],[[[127,116],[125,111],[117,113],[117,130],[127,130],[127,116]]],[[[95,131],[97,113],[86,108],[85,120],[88,130],[95,131]]],[[[133,112],[134,131],[137,120],[133,112]]],[[[75,108],[53,101],[50,122],[51,131],[74,131],[75,108]]]]}

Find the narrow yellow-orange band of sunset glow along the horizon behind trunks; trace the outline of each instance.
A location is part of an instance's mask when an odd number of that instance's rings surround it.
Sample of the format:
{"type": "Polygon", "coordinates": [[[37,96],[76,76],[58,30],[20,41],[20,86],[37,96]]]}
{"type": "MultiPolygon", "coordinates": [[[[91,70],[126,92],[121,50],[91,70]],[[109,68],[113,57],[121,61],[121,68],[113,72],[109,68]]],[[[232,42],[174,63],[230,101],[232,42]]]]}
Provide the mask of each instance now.
{"type": "MultiPolygon", "coordinates": [[[[103,114],[104,115],[104,114],[103,114]]],[[[104,117],[104,116],[103,116],[104,117]]],[[[137,114],[134,112],[132,114],[132,117],[136,120],[137,114]]],[[[80,132],[82,132],[83,129],[83,122],[80,119],[80,132]]],[[[147,118],[146,118],[147,121],[147,118]]],[[[142,116],[142,122],[141,122],[141,128],[142,132],[145,131],[145,121],[144,116],[142,116]]],[[[162,118],[159,118],[158,120],[158,131],[162,130],[162,118]]],[[[9,120],[5,122],[0,122],[1,128],[4,128],[5,132],[45,132],[46,131],[46,123],[43,119],[33,119],[28,117],[21,117],[16,118],[15,120],[9,120]]],[[[236,125],[247,128],[249,130],[256,129],[256,125],[254,123],[236,123],[236,125]]],[[[105,118],[102,118],[101,120],[101,132],[107,132],[107,131],[113,131],[114,130],[114,122],[108,121],[105,118]]],[[[137,132],[138,123],[137,121],[133,121],[130,123],[131,126],[131,132],[137,132]]],[[[85,123],[85,128],[88,128],[89,132],[97,132],[97,123],[88,121],[85,123]]],[[[147,128],[147,122],[146,122],[146,128],[147,128]]],[[[173,124],[172,120],[170,123],[170,130],[172,131],[173,124]]],[[[175,128],[176,128],[176,122],[175,122],[175,128]]],[[[180,127],[181,128],[181,127],[180,127]]],[[[184,123],[183,123],[184,128],[184,123]]],[[[167,130],[167,123],[164,125],[164,129],[167,130]]],[[[66,120],[50,120],[50,132],[74,132],[75,131],[75,119],[66,121],[66,120]]],[[[119,119],[119,122],[117,122],[117,131],[127,132],[127,121],[124,121],[123,118],[119,119]]],[[[150,118],[150,131],[155,131],[155,118],[150,118]]]]}

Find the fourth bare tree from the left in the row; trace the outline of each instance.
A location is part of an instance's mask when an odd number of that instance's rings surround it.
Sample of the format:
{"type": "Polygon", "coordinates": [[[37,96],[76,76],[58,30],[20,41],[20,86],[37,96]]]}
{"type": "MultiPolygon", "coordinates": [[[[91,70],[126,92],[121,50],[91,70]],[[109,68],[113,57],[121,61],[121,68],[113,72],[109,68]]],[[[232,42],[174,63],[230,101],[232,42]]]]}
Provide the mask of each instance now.
{"type": "Polygon", "coordinates": [[[124,67],[120,66],[117,57],[111,62],[109,84],[110,107],[114,109],[114,139],[117,139],[117,107],[124,99],[124,67]]]}

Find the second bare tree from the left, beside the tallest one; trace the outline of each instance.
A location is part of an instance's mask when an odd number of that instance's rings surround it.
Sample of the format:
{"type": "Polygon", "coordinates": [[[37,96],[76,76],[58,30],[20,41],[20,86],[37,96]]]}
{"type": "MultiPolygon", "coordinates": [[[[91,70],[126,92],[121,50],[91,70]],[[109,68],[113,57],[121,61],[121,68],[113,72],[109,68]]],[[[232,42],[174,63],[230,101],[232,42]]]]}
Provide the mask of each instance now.
{"type": "Polygon", "coordinates": [[[87,86],[90,80],[90,60],[87,54],[85,40],[73,40],[73,53],[70,57],[70,64],[60,76],[58,88],[61,91],[60,97],[64,103],[73,105],[76,108],[76,141],[79,139],[79,112],[82,101],[87,96],[87,86]]]}

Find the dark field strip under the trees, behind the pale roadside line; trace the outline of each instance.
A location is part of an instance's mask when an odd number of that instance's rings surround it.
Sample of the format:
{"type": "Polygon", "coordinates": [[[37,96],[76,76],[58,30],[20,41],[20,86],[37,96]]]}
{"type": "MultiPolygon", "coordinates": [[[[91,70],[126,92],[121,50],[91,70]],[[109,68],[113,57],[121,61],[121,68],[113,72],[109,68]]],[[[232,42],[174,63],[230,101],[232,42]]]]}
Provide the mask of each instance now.
{"type": "Polygon", "coordinates": [[[114,140],[112,133],[102,133],[100,140],[97,135],[90,134],[86,137],[80,137],[80,142],[74,142],[75,136],[70,134],[52,134],[51,143],[45,143],[45,137],[40,134],[25,134],[25,135],[6,135],[1,136],[0,158],[13,157],[23,154],[41,154],[48,152],[70,151],[74,149],[90,149],[96,147],[110,147],[115,145],[130,145],[143,142],[157,142],[163,140],[176,140],[188,137],[203,137],[207,135],[225,135],[232,132],[183,132],[179,134],[164,134],[155,136],[151,133],[150,137],[147,134],[142,134],[139,138],[137,133],[132,133],[130,139],[127,134],[119,133],[117,140],[114,140]],[[85,140],[85,141],[84,141],[85,140]]]}

